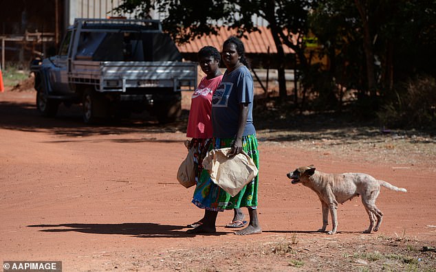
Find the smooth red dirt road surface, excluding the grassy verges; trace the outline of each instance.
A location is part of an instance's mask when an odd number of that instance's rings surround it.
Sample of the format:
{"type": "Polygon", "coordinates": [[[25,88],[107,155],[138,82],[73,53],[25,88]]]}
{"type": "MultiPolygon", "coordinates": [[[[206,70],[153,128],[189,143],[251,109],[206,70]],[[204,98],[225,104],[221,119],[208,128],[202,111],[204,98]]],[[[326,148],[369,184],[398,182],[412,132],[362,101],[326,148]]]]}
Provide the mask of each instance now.
{"type": "Polygon", "coordinates": [[[233,235],[224,228],[232,212],[224,212],[217,235],[186,235],[184,226],[203,211],[190,203],[193,189],[175,180],[186,154],[183,128],[134,119],[86,126],[77,111],[67,109],[47,119],[36,113],[34,94],[0,93],[0,262],[60,260],[63,271],[173,271],[155,263],[168,252],[235,244],[245,250],[292,233],[301,242],[378,235],[435,245],[434,160],[369,163],[358,152],[341,157],[261,141],[263,234],[233,235]],[[323,172],[367,172],[408,192],[382,188],[377,204],[384,219],[377,234],[359,234],[369,224],[360,198],[340,205],[338,234],[313,233],[321,225],[317,196],[286,177],[309,164],[323,172]]]}

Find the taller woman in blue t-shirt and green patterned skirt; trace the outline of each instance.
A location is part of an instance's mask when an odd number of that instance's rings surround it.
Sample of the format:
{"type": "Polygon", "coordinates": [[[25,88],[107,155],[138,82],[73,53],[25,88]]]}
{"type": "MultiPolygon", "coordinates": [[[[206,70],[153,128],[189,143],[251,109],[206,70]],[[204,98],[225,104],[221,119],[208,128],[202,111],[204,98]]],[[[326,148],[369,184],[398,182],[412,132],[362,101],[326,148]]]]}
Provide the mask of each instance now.
{"type": "MultiPolygon", "coordinates": [[[[215,149],[232,148],[230,157],[244,150],[259,168],[259,150],[252,118],[253,78],[244,53],[245,49],[239,38],[232,36],[224,42],[221,57],[227,70],[212,96],[213,144],[215,149]]],[[[239,194],[230,196],[215,185],[204,170],[193,198],[197,207],[206,209],[204,223],[188,230],[188,233],[214,233],[218,212],[247,207],[250,223],[235,234],[260,234],[262,230],[257,217],[258,183],[259,176],[248,183],[239,194]]]]}

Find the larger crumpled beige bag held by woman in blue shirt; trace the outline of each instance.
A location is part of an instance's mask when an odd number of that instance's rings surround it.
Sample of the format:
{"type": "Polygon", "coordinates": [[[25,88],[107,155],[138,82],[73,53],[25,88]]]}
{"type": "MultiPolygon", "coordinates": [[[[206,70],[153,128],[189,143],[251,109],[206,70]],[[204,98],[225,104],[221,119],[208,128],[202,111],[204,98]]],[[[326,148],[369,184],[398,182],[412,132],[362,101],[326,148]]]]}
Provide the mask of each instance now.
{"type": "Polygon", "coordinates": [[[210,179],[231,196],[236,196],[242,188],[257,176],[254,161],[242,151],[230,159],[231,148],[210,150],[203,159],[203,167],[208,170],[210,179]]]}

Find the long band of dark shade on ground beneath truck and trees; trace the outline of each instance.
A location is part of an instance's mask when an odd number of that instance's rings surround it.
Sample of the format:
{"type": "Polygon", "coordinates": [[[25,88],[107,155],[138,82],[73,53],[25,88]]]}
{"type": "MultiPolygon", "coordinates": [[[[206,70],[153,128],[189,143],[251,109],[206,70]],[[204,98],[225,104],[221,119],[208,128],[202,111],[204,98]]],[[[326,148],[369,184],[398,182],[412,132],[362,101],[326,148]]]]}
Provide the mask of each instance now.
{"type": "MultiPolygon", "coordinates": [[[[255,102],[256,103],[256,102],[255,102]]],[[[260,103],[260,102],[259,102],[260,103]]],[[[384,141],[384,137],[408,137],[411,141],[427,143],[435,142],[432,133],[419,131],[393,131],[380,128],[373,121],[362,121],[353,118],[350,113],[300,114],[287,108],[268,109],[255,106],[254,125],[260,141],[302,141],[307,139],[330,141],[331,145],[347,144],[362,139],[384,141]],[[424,135],[413,139],[415,135],[424,135]],[[430,135],[430,138],[426,137],[430,135]]],[[[127,119],[110,119],[100,124],[83,123],[81,108],[72,105],[69,108],[61,104],[56,117],[43,117],[30,102],[0,102],[0,127],[17,130],[53,133],[67,137],[87,137],[91,135],[124,135],[129,133],[156,134],[142,139],[117,139],[114,141],[174,141],[162,140],[158,133],[186,133],[188,111],[182,111],[177,122],[158,124],[154,117],[144,112],[127,119]]],[[[178,141],[178,140],[177,140],[178,141]]]]}

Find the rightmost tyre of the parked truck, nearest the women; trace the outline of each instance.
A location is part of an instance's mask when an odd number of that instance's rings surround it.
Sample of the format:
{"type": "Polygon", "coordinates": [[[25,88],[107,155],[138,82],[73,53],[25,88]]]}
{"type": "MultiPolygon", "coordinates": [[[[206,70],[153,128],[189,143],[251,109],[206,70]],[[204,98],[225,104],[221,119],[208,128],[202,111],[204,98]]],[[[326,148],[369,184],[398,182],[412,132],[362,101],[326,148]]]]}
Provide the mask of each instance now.
{"type": "Polygon", "coordinates": [[[175,122],[182,115],[182,95],[181,93],[168,95],[166,100],[154,102],[154,115],[160,124],[175,122]],[[168,100],[168,96],[171,98],[168,100]]]}

